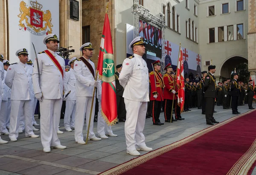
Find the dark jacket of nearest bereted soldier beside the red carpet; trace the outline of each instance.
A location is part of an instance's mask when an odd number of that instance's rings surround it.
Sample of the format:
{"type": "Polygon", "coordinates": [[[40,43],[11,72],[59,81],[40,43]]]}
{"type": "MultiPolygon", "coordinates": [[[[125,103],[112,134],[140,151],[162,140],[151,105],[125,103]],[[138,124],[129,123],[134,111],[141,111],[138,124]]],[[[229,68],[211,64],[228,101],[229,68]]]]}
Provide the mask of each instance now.
{"type": "Polygon", "coordinates": [[[204,97],[206,98],[216,98],[216,83],[215,77],[208,72],[204,78],[204,97]]]}

